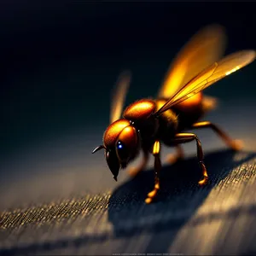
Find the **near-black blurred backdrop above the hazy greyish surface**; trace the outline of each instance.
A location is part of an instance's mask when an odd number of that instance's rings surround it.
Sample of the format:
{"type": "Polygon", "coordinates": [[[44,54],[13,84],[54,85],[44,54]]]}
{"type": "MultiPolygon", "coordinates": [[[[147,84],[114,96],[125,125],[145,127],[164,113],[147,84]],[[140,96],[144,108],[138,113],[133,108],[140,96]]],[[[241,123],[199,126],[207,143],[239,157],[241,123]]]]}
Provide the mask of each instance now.
{"type": "MultiPolygon", "coordinates": [[[[253,9],[249,2],[2,2],[2,153],[108,125],[110,90],[123,68],[133,73],[127,102],[154,96],[177,50],[202,26],[225,26],[227,53],[254,49],[253,9]]],[[[254,68],[208,91],[224,101],[254,99],[254,68]]]]}

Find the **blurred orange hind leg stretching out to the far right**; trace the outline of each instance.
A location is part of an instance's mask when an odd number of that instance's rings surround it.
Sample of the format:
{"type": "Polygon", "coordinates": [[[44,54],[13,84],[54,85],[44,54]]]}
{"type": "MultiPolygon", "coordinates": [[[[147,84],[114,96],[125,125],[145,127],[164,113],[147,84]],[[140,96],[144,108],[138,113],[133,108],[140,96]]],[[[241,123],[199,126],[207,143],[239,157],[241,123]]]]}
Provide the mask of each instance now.
{"type": "Polygon", "coordinates": [[[213,131],[215,131],[219,137],[221,137],[224,140],[224,143],[226,143],[230,148],[233,150],[240,150],[242,148],[241,141],[238,140],[232,140],[224,131],[222,131],[217,125],[212,124],[211,122],[204,121],[195,123],[192,128],[211,128],[213,131]]]}

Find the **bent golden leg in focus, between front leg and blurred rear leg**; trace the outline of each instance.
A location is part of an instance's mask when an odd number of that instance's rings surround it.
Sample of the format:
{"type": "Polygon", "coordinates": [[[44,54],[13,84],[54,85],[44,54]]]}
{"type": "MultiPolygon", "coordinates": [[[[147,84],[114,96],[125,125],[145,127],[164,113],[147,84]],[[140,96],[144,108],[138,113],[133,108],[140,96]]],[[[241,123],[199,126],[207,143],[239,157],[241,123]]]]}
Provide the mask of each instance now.
{"type": "Polygon", "coordinates": [[[199,138],[194,134],[194,133],[177,133],[175,136],[174,142],[175,143],[189,143],[192,141],[196,141],[196,148],[197,148],[197,158],[199,160],[199,164],[201,166],[202,174],[203,174],[203,179],[199,181],[198,183],[200,185],[204,185],[207,183],[208,180],[208,174],[207,174],[207,168],[203,162],[203,150],[201,148],[201,141],[199,138]]]}

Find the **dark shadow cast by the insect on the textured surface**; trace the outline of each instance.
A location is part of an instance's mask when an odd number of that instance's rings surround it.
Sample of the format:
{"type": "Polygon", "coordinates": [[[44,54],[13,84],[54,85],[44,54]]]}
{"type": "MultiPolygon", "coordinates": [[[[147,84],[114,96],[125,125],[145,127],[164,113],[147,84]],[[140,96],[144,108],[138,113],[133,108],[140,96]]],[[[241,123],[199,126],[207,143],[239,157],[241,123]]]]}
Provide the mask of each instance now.
{"type": "Polygon", "coordinates": [[[113,224],[114,235],[136,241],[134,248],[139,250],[123,253],[168,253],[178,230],[195,214],[211,190],[228,178],[236,166],[253,159],[256,153],[242,152],[242,159],[235,160],[240,155],[230,149],[206,154],[205,163],[211,182],[203,188],[198,185],[201,169],[196,158],[163,166],[160,193],[151,205],[146,205],[144,200],[154,186],[153,169],[141,172],[113,191],[109,199],[108,220],[113,224]],[[142,239],[141,235],[145,234],[143,237],[147,238],[142,239]]]}

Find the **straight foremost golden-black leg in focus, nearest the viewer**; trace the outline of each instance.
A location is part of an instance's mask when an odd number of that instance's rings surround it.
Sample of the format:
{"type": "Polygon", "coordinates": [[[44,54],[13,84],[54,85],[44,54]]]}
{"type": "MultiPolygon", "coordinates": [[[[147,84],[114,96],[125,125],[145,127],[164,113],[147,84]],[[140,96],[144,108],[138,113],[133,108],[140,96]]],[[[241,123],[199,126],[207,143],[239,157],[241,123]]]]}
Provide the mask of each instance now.
{"type": "Polygon", "coordinates": [[[158,190],[160,189],[160,141],[155,141],[153,146],[153,155],[154,155],[154,189],[148,193],[148,198],[145,200],[147,204],[151,203],[154,197],[157,195],[158,190]]]}

